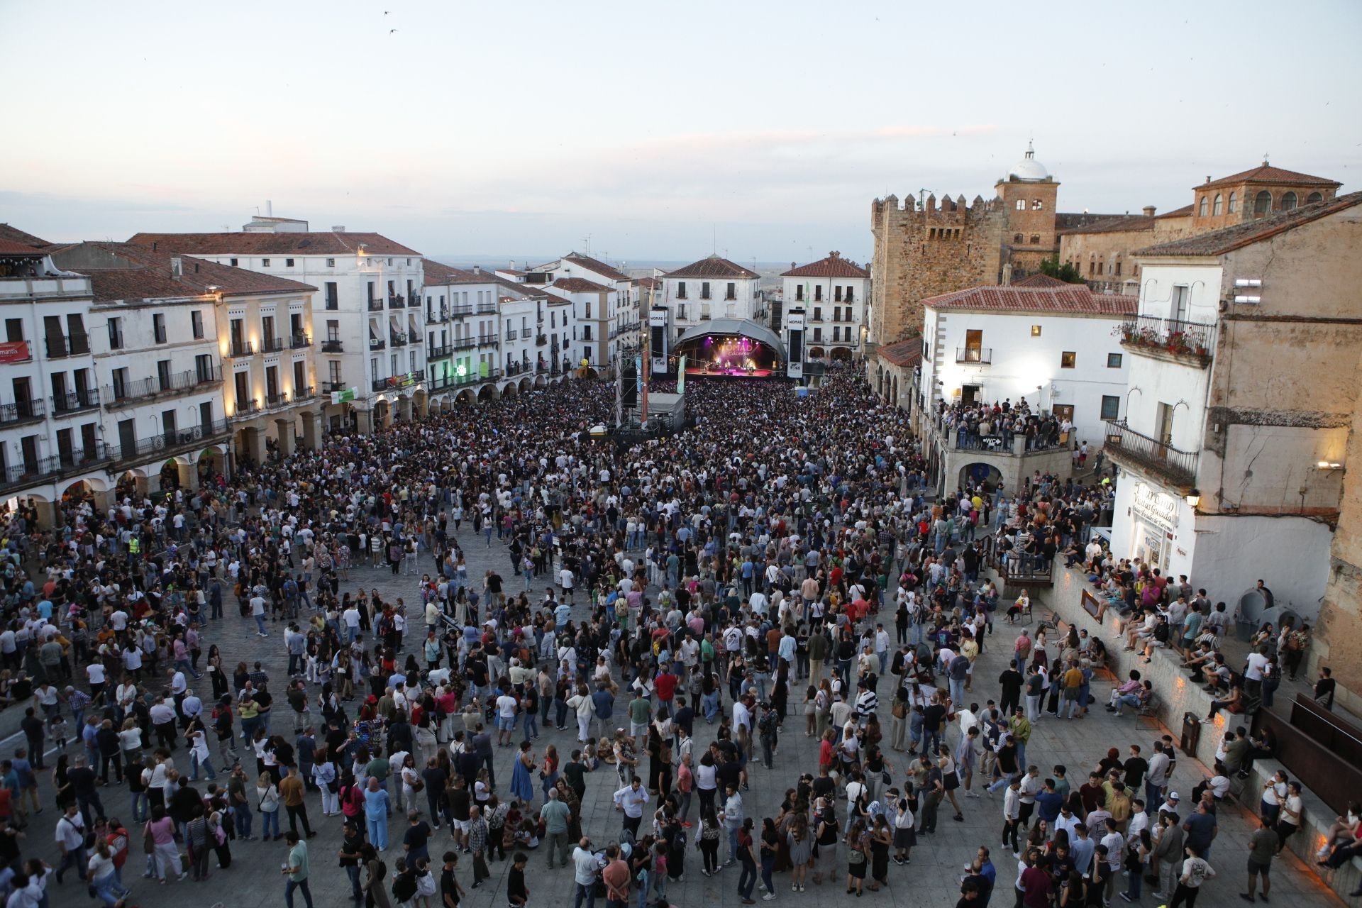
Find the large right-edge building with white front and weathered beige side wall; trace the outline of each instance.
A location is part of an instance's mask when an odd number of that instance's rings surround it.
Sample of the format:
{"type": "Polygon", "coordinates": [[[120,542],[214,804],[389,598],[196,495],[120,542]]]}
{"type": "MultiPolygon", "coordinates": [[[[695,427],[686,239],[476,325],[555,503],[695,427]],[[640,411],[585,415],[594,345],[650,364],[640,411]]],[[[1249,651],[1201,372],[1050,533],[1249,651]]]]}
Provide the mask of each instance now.
{"type": "Polygon", "coordinates": [[[1359,380],[1362,193],[1139,250],[1111,546],[1313,621],[1359,380]]]}

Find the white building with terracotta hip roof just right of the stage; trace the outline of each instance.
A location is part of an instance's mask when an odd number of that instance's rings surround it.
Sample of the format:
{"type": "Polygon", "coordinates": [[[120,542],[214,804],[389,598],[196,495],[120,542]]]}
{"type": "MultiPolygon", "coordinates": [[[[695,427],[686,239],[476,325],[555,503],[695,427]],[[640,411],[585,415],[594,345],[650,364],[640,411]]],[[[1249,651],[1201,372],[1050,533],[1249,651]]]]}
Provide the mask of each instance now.
{"type": "Polygon", "coordinates": [[[870,299],[866,268],[843,259],[840,252],[829,252],[806,265],[791,261],[780,280],[783,308],[804,308],[810,359],[850,359],[861,351],[870,299]]]}

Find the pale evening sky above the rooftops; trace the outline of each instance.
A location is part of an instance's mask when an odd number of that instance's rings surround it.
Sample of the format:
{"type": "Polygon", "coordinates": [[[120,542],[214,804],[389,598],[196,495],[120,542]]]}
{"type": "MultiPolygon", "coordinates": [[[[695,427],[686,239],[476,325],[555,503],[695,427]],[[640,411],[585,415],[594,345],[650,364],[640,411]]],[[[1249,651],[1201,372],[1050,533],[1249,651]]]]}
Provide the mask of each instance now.
{"type": "Polygon", "coordinates": [[[870,257],[889,192],[1160,211],[1273,165],[1362,188],[1362,3],[0,0],[0,222],[429,256],[870,257]]]}

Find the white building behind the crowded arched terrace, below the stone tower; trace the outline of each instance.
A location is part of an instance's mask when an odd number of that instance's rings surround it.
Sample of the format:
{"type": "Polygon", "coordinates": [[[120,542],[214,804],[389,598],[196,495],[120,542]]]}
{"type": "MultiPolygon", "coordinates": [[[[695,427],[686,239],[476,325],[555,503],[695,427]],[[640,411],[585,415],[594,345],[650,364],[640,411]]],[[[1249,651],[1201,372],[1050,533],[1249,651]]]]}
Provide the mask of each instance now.
{"type": "Polygon", "coordinates": [[[915,417],[945,487],[963,485],[962,478],[992,478],[1016,489],[1035,470],[1068,475],[1069,451],[1087,442],[1095,453],[1103,421],[1121,415],[1128,354],[1120,334],[1135,313],[1135,299],[1046,282],[971,287],[922,301],[919,388],[926,400],[915,417]],[[998,440],[962,444],[938,419],[941,402],[1011,406],[1022,400],[1031,412],[1072,423],[1073,430],[1061,437],[1062,448],[1027,449],[1022,437],[1012,447],[998,440]]]}

